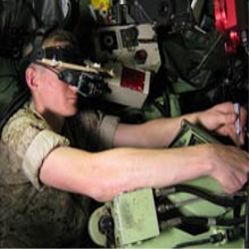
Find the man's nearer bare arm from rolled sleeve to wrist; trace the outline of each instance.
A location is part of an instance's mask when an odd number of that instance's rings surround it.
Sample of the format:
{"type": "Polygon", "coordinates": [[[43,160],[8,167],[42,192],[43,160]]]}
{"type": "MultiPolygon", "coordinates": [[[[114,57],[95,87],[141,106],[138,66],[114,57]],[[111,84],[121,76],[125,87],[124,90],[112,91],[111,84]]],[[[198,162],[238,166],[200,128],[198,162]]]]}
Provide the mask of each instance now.
{"type": "Polygon", "coordinates": [[[92,154],[58,148],[45,160],[40,178],[47,185],[106,201],[123,191],[168,186],[208,174],[201,150],[201,146],[120,148],[92,154]]]}

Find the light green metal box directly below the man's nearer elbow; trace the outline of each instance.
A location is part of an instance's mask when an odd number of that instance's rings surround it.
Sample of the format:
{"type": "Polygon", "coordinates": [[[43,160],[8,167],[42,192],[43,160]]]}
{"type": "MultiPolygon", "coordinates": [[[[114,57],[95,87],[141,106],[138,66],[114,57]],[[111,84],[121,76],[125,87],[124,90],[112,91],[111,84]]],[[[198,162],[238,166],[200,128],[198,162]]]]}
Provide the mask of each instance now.
{"type": "Polygon", "coordinates": [[[159,235],[152,189],[124,193],[113,200],[117,246],[130,246],[159,235]]]}

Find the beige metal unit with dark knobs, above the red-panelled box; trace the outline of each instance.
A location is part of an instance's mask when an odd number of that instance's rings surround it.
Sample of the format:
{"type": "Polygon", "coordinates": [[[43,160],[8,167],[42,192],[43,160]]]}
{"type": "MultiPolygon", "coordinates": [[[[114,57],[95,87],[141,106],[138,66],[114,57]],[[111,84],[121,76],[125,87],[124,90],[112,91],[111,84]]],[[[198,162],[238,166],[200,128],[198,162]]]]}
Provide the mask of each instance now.
{"type": "Polygon", "coordinates": [[[101,27],[95,35],[98,61],[117,61],[134,69],[157,72],[161,59],[151,24],[101,27]]]}

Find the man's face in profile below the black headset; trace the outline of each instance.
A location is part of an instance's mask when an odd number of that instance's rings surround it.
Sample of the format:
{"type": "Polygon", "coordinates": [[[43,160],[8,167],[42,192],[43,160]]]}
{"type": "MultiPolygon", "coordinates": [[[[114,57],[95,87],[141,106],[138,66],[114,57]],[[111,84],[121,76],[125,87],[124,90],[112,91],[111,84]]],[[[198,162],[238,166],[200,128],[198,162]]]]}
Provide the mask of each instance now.
{"type": "Polygon", "coordinates": [[[77,112],[77,88],[58,79],[56,72],[43,68],[39,75],[39,96],[44,110],[61,116],[77,112]]]}

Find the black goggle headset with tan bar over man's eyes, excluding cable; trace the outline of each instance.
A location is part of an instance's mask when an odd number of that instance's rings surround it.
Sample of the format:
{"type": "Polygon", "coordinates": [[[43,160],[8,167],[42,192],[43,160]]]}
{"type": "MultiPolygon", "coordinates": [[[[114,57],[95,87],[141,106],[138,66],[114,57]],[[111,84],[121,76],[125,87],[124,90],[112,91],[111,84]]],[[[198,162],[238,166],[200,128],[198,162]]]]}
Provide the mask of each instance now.
{"type": "Polygon", "coordinates": [[[30,55],[29,62],[51,69],[61,81],[76,86],[78,93],[85,98],[110,92],[105,83],[105,78],[110,74],[84,64],[79,55],[79,50],[72,46],[39,48],[30,55]]]}

